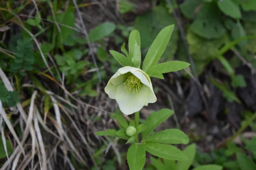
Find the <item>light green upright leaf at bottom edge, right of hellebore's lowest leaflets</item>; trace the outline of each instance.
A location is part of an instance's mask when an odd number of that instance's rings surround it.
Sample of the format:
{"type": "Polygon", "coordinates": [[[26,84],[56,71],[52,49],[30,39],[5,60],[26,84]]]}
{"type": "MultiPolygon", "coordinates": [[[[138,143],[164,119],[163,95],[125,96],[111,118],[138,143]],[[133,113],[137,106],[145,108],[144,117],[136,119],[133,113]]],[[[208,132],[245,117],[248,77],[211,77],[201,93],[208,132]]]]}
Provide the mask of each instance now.
{"type": "Polygon", "coordinates": [[[184,155],[186,155],[188,160],[178,161],[176,170],[189,170],[189,167],[191,166],[195,158],[195,150],[196,150],[195,144],[190,144],[183,150],[183,153],[184,155]]]}

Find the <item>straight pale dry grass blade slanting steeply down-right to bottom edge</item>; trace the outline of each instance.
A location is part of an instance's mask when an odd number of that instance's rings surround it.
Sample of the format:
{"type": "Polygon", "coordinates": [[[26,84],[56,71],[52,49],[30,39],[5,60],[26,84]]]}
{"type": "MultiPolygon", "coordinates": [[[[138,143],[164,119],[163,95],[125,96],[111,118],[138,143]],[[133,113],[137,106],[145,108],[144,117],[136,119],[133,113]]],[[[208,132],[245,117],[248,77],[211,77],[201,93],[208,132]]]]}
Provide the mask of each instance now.
{"type": "MultiPolygon", "coordinates": [[[[36,112],[38,112],[38,109],[35,107],[36,112]]],[[[37,116],[34,116],[34,125],[35,125],[35,132],[37,134],[37,139],[38,139],[38,143],[40,146],[40,150],[41,150],[41,154],[42,154],[42,169],[46,170],[47,169],[47,161],[46,161],[46,152],[45,152],[45,148],[44,148],[44,141],[43,141],[43,137],[38,125],[38,119],[37,116]]]]}

